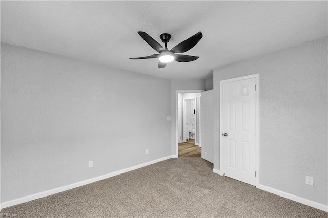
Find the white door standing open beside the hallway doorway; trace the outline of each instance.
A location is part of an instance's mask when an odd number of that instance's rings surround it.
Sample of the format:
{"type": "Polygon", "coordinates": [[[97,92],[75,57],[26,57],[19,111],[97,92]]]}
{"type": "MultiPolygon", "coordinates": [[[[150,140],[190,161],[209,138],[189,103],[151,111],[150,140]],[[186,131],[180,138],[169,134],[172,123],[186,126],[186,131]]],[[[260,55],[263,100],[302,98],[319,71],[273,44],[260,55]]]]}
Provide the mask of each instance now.
{"type": "Polygon", "coordinates": [[[214,162],[214,111],[213,90],[200,96],[201,158],[214,162]]]}

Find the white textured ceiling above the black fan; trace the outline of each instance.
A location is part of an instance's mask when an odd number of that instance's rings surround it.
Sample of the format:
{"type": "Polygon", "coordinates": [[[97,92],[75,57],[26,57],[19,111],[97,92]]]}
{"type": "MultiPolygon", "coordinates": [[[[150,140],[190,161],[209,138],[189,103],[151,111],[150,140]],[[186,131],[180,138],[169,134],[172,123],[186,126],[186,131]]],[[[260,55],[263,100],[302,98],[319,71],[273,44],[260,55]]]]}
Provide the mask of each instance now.
{"type": "Polygon", "coordinates": [[[326,1],[2,1],[1,41],[153,76],[207,78],[214,68],[328,35],[326,1]],[[193,62],[157,68],[138,34],[170,33],[171,49],[198,31],[193,62]]]}

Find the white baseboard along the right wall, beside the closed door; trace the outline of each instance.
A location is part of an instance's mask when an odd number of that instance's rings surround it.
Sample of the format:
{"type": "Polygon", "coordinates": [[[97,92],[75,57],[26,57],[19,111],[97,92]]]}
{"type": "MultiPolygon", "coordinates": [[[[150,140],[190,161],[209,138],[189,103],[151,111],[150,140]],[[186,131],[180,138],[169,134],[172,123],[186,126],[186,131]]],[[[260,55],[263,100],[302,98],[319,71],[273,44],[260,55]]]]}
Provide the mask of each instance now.
{"type": "Polygon", "coordinates": [[[276,194],[276,195],[279,195],[279,196],[281,196],[283,198],[290,199],[292,201],[296,201],[296,202],[299,202],[299,203],[308,205],[310,207],[314,207],[314,208],[317,208],[319,210],[323,210],[325,212],[328,212],[328,205],[324,205],[324,204],[321,204],[321,203],[318,203],[318,202],[314,202],[314,201],[311,201],[311,200],[308,200],[308,199],[304,199],[304,198],[298,197],[298,196],[296,196],[294,194],[290,194],[290,193],[287,193],[287,192],[279,191],[277,189],[270,188],[268,186],[261,185],[261,184],[258,185],[257,188],[259,188],[261,190],[264,190],[264,191],[268,191],[268,192],[273,193],[273,194],[276,194]]]}

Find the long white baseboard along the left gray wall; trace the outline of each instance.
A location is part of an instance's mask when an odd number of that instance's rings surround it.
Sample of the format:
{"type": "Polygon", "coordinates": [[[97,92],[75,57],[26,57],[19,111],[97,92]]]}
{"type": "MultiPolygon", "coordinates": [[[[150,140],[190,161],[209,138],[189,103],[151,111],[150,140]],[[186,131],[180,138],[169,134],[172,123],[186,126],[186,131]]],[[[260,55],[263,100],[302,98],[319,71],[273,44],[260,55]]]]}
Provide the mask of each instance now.
{"type": "Polygon", "coordinates": [[[108,174],[103,175],[103,176],[95,177],[95,178],[92,178],[92,179],[84,180],[84,181],[81,181],[81,182],[73,183],[73,184],[58,187],[58,188],[54,188],[54,189],[51,189],[51,190],[48,190],[48,191],[43,191],[43,192],[39,192],[39,193],[36,193],[36,194],[31,194],[31,195],[28,195],[26,197],[22,197],[22,198],[19,198],[19,199],[14,199],[14,200],[11,200],[11,201],[3,202],[3,203],[1,203],[1,206],[2,206],[1,208],[3,209],[3,208],[10,207],[10,206],[13,206],[13,205],[22,204],[24,202],[32,201],[32,200],[43,198],[43,197],[47,197],[47,196],[52,195],[52,194],[56,194],[56,193],[59,193],[59,192],[62,192],[62,191],[67,191],[67,190],[70,190],[72,188],[87,185],[89,183],[97,182],[99,180],[104,180],[104,179],[107,179],[107,178],[110,178],[110,177],[120,175],[120,174],[125,173],[125,172],[129,172],[129,171],[132,171],[132,170],[135,170],[135,169],[139,169],[141,167],[145,167],[145,166],[148,166],[148,165],[151,165],[151,164],[154,164],[154,163],[165,161],[165,160],[168,160],[170,158],[174,158],[174,155],[159,158],[157,160],[149,161],[147,163],[139,164],[139,165],[132,166],[132,167],[129,167],[129,168],[126,168],[126,169],[121,169],[121,170],[118,170],[118,171],[115,171],[115,172],[108,173],[108,174]]]}

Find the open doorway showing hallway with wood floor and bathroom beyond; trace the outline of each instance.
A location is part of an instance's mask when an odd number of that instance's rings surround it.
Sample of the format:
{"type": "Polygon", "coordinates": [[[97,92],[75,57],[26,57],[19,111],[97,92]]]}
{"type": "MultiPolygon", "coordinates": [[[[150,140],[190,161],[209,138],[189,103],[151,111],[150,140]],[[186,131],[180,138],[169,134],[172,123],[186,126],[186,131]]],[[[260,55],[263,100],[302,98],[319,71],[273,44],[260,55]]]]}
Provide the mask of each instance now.
{"type": "Polygon", "coordinates": [[[176,91],[176,154],[201,157],[199,98],[203,90],[176,91]]]}

